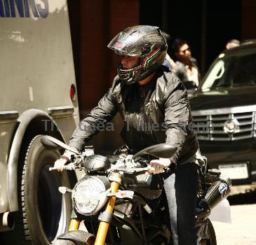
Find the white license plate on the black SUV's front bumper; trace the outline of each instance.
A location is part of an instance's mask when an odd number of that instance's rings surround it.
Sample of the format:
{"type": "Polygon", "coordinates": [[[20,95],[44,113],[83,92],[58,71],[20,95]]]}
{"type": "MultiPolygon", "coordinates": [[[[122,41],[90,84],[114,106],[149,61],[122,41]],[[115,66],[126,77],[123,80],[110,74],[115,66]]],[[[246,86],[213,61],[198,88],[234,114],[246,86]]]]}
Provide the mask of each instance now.
{"type": "Polygon", "coordinates": [[[227,176],[230,179],[247,179],[249,176],[246,163],[219,165],[219,169],[223,176],[227,176]]]}

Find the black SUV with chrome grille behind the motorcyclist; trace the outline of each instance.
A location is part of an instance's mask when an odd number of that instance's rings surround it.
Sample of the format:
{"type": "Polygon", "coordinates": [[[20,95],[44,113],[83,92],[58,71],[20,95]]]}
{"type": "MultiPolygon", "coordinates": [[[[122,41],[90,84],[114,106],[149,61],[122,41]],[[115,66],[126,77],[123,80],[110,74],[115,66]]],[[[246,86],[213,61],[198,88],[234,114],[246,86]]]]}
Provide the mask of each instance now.
{"type": "Polygon", "coordinates": [[[209,167],[234,185],[256,183],[256,42],[221,53],[190,105],[209,167]]]}

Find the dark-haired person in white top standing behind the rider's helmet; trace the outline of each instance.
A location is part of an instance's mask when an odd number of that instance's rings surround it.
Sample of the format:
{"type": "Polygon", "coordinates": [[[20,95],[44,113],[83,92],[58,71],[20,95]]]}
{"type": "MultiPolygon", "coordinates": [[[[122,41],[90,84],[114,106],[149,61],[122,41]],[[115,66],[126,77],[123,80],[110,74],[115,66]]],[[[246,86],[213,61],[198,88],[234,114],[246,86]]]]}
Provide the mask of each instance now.
{"type": "Polygon", "coordinates": [[[182,83],[193,81],[196,87],[201,82],[201,75],[196,64],[196,59],[191,57],[191,50],[187,41],[177,38],[173,41],[173,58],[175,59],[175,73],[182,83]]]}

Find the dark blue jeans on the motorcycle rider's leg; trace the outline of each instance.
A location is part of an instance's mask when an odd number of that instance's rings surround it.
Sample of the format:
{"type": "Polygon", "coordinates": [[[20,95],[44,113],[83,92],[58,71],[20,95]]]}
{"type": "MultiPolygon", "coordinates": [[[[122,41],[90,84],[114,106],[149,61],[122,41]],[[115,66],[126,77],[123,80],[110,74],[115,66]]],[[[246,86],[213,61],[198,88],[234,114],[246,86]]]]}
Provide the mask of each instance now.
{"type": "Polygon", "coordinates": [[[164,188],[170,212],[174,245],[196,245],[195,209],[198,172],[195,163],[177,166],[165,174],[164,188]]]}

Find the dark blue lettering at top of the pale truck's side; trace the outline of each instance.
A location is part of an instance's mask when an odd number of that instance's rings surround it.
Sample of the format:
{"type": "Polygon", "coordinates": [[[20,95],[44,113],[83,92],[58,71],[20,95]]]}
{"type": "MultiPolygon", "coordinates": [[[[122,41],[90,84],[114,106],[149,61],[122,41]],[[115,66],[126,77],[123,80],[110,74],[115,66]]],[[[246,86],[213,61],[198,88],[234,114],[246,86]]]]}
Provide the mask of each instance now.
{"type": "Polygon", "coordinates": [[[34,18],[46,18],[49,14],[48,0],[0,0],[0,18],[29,18],[29,7],[34,18]],[[41,3],[39,3],[41,1],[41,3]],[[16,14],[18,13],[18,16],[16,14]]]}

